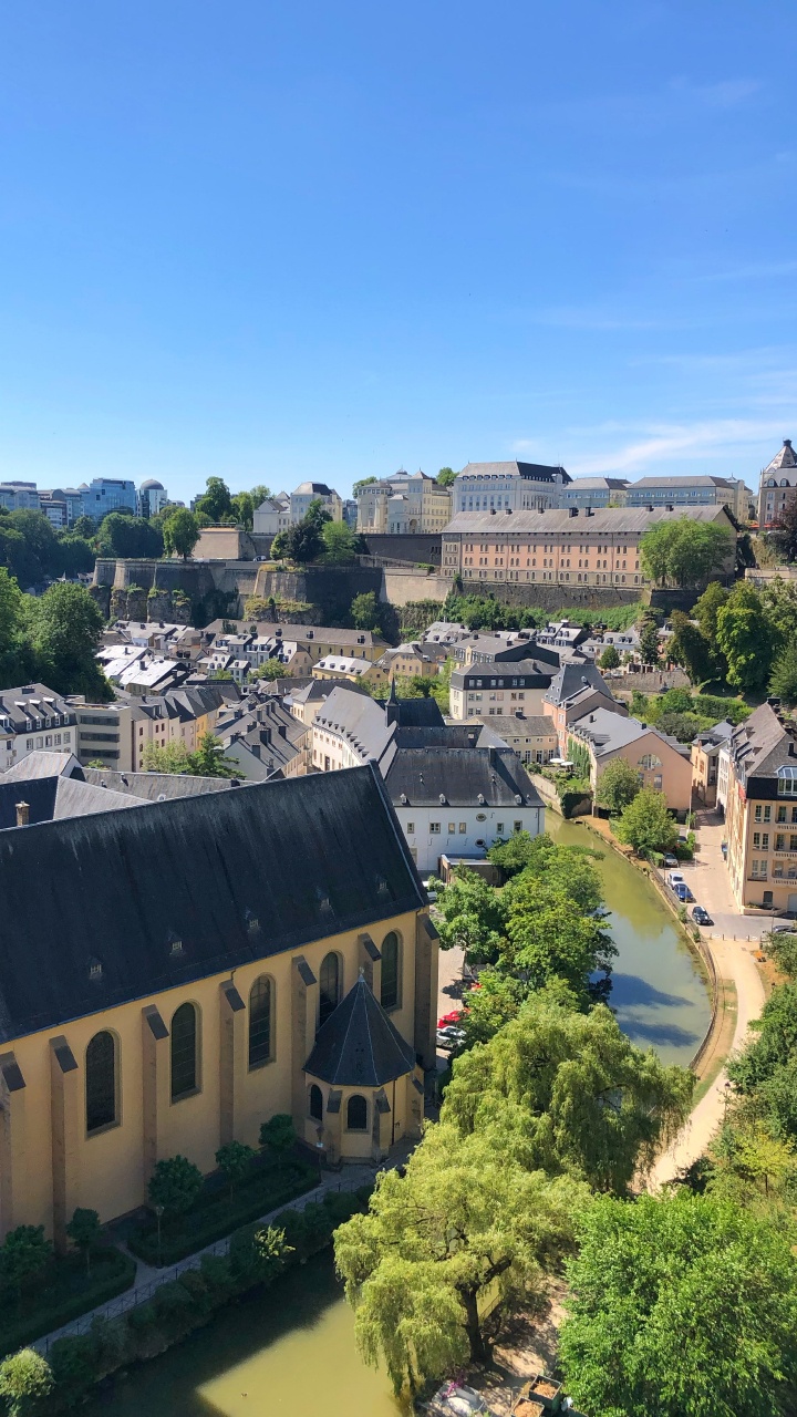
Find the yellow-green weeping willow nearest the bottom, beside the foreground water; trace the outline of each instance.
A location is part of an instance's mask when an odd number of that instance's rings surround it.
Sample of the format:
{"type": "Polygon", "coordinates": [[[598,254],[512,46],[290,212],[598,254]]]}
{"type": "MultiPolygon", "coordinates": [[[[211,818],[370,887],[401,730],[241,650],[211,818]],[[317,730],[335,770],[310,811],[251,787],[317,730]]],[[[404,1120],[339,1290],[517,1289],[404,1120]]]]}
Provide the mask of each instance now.
{"type": "Polygon", "coordinates": [[[335,1233],[364,1360],[384,1362],[396,1391],[468,1356],[485,1362],[479,1294],[498,1278],[508,1292],[539,1292],[586,1199],[579,1182],[529,1175],[481,1136],[428,1128],[404,1173],[379,1178],[369,1214],[335,1233]]]}

